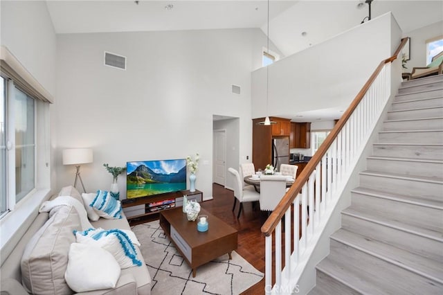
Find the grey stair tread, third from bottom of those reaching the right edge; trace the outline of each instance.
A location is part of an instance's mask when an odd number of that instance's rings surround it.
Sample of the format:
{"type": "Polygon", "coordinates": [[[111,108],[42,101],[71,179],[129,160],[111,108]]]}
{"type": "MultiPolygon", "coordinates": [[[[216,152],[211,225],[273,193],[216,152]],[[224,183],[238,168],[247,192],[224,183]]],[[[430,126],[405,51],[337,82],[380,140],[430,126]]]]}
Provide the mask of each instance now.
{"type": "Polygon", "coordinates": [[[420,196],[409,197],[406,195],[399,195],[393,193],[383,192],[382,190],[374,190],[373,188],[364,188],[359,186],[351,190],[352,193],[359,193],[362,195],[371,195],[373,197],[381,197],[385,199],[396,200],[398,202],[404,202],[408,204],[415,204],[419,206],[426,206],[428,208],[435,208],[443,210],[443,199],[424,199],[420,196]]]}

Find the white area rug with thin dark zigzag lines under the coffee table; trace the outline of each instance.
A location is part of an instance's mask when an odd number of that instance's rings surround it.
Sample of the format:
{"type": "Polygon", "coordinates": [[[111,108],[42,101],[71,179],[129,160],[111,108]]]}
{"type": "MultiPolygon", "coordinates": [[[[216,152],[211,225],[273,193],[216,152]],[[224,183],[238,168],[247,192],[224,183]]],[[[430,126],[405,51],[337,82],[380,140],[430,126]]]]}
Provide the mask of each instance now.
{"type": "Polygon", "coordinates": [[[158,221],[138,224],[132,231],[141,242],[141,252],[152,279],[152,295],[237,295],[263,278],[262,272],[235,251],[232,260],[225,254],[198,267],[197,275],[192,278],[188,263],[163,233],[158,221]]]}

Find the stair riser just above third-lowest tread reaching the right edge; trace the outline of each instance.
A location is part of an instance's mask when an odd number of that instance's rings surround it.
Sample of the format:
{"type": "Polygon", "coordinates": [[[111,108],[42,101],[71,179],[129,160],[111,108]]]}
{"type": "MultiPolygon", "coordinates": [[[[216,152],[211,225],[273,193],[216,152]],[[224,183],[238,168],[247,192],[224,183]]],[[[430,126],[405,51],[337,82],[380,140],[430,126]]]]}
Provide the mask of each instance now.
{"type": "Polygon", "coordinates": [[[424,199],[435,201],[442,200],[442,184],[361,174],[360,185],[374,190],[383,190],[386,191],[386,193],[406,195],[410,197],[419,195],[424,199]]]}

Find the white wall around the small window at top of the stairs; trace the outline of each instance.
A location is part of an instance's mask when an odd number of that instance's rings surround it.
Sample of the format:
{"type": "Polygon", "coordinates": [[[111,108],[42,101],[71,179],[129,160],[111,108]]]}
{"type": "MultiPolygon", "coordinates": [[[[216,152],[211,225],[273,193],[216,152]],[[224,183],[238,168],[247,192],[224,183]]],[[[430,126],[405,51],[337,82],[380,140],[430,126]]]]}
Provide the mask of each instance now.
{"type": "Polygon", "coordinates": [[[406,63],[408,69],[404,69],[404,71],[410,73],[414,66],[426,66],[426,40],[443,36],[443,21],[403,35],[404,37],[410,37],[410,60],[406,63]]]}

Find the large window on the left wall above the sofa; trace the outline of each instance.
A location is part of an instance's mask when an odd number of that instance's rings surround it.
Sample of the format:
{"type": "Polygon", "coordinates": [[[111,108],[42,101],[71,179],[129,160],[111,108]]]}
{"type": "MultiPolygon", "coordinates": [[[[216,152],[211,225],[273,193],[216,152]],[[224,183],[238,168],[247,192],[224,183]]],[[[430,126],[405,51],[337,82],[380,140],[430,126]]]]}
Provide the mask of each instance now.
{"type": "Polygon", "coordinates": [[[0,203],[5,213],[36,187],[36,101],[1,77],[0,102],[0,203]]]}

